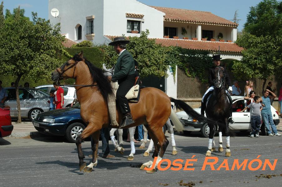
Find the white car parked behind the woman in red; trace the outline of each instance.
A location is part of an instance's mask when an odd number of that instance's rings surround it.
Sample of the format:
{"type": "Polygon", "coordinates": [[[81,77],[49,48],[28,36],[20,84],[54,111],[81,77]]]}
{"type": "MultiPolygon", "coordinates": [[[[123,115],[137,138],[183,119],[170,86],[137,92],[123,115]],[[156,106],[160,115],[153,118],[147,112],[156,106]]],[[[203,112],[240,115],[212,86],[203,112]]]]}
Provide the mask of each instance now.
{"type": "MultiPolygon", "coordinates": [[[[47,93],[50,93],[51,90],[55,90],[53,85],[42,85],[42,86],[37,86],[36,88],[41,89],[41,90],[43,90],[47,93]]],[[[74,100],[75,88],[74,87],[62,86],[62,89],[64,90],[64,105],[63,105],[63,108],[71,107],[71,103],[74,100]]]]}

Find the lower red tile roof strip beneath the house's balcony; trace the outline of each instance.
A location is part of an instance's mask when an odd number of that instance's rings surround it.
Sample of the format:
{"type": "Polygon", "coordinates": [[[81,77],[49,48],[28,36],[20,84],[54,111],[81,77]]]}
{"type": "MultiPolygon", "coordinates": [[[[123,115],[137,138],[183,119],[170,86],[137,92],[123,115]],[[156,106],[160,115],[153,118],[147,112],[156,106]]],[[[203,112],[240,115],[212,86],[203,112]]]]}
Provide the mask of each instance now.
{"type": "MultiPolygon", "coordinates": [[[[117,36],[105,35],[109,40],[117,36]]],[[[241,53],[243,47],[237,46],[231,42],[219,42],[219,41],[197,41],[197,40],[182,40],[182,39],[167,39],[167,38],[154,38],[157,44],[162,46],[179,46],[191,50],[207,50],[218,51],[220,46],[221,52],[241,53]]]]}

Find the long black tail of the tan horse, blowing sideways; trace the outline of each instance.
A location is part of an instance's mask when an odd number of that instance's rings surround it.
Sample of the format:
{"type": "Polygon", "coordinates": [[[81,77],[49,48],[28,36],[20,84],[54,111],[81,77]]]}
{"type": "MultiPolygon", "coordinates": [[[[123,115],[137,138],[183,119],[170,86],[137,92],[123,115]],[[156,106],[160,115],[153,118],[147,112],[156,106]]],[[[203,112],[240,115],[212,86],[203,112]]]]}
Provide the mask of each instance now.
{"type": "Polygon", "coordinates": [[[191,108],[188,104],[184,103],[181,100],[178,100],[175,98],[170,98],[170,99],[171,99],[171,102],[175,104],[176,109],[184,110],[189,116],[193,117],[194,119],[198,120],[199,122],[207,122],[211,125],[215,125],[216,127],[217,125],[220,125],[220,126],[224,125],[222,123],[215,122],[214,120],[208,117],[204,117],[200,115],[195,110],[193,110],[193,108],[191,108]]]}

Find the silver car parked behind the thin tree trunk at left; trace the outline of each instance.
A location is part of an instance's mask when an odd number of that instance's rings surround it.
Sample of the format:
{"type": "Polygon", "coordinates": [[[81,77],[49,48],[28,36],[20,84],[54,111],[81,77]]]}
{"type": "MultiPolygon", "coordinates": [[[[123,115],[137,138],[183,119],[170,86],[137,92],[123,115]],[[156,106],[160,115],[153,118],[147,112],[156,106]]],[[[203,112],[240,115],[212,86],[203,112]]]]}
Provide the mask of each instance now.
{"type": "MultiPolygon", "coordinates": [[[[10,107],[10,115],[12,118],[17,118],[17,100],[16,89],[5,88],[8,94],[5,105],[10,107]]],[[[40,89],[34,88],[19,88],[19,98],[21,106],[21,117],[34,119],[38,113],[49,111],[50,95],[40,89]]]]}

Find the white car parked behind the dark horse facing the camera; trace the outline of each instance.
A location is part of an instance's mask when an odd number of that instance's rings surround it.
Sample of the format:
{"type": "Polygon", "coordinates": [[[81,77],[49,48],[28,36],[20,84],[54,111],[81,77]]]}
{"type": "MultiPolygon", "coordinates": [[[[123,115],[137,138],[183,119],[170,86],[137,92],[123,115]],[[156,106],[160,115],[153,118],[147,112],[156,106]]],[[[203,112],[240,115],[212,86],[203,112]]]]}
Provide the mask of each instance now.
{"type": "MultiPolygon", "coordinates": [[[[244,112],[240,113],[240,110],[243,110],[247,106],[247,101],[249,99],[244,99],[243,96],[231,96],[233,100],[233,112],[232,117],[234,118],[235,123],[229,124],[230,130],[233,131],[250,131],[251,122],[250,122],[250,109],[248,108],[244,112]]],[[[201,108],[195,108],[196,112],[201,113],[201,108]]],[[[279,115],[274,107],[271,106],[272,118],[274,124],[277,126],[279,124],[279,115]]],[[[203,137],[209,137],[210,128],[207,123],[200,123],[192,117],[188,116],[186,112],[181,111],[176,113],[177,117],[180,119],[184,126],[184,130],[188,132],[201,132],[203,137]]],[[[262,122],[260,131],[263,135],[266,135],[265,125],[262,122]]]]}

